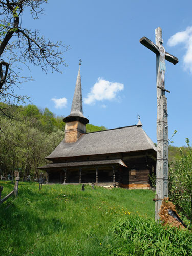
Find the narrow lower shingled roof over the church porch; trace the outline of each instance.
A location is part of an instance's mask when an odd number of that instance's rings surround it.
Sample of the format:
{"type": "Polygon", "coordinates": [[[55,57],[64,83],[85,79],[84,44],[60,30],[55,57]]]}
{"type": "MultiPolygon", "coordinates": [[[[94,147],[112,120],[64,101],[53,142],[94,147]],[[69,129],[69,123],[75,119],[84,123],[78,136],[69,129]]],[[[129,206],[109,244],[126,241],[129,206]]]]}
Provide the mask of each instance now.
{"type": "Polygon", "coordinates": [[[110,159],[110,160],[98,160],[98,161],[82,161],[82,162],[68,162],[68,163],[50,163],[37,169],[53,169],[53,168],[65,168],[75,166],[92,166],[92,165],[106,165],[106,164],[120,164],[127,167],[121,159],[110,159]]]}

